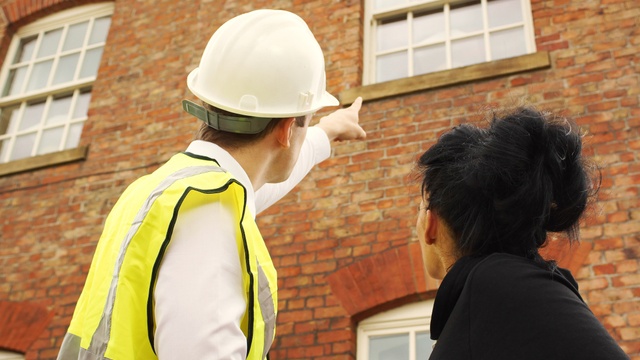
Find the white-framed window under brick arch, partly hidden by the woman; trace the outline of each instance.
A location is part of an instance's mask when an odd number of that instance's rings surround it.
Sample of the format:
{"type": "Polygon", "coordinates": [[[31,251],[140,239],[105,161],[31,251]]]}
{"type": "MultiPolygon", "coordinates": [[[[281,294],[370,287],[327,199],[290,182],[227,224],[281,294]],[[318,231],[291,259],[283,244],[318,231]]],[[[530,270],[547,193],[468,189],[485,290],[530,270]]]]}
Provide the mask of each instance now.
{"type": "Polygon", "coordinates": [[[405,305],[358,324],[357,360],[428,359],[433,300],[405,305]]]}

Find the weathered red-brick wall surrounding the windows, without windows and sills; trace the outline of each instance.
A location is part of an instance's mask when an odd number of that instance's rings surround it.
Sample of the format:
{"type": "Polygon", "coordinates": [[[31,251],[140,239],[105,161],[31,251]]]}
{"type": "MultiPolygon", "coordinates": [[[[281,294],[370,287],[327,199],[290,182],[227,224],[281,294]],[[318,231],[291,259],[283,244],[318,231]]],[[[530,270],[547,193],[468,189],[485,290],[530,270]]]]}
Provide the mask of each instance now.
{"type": "MultiPolygon", "coordinates": [[[[576,257],[575,275],[594,313],[640,359],[640,3],[531,2],[537,48],[549,51],[550,69],[365,103],[368,139],[336,144],[333,158],[262,214],[281,288],[274,359],[354,359],[357,320],[433,296],[431,285],[411,287],[426,280],[407,261],[416,241],[413,161],[451,125],[482,121],[489,106],[520,101],[572,116],[587,131],[586,152],[603,178],[582,226],[588,251],[576,257]],[[386,276],[389,264],[397,266],[393,274],[415,277],[385,297],[391,287],[374,285],[371,274],[386,276]],[[353,310],[329,281],[347,270],[371,278],[379,300],[369,308],[353,310]]],[[[0,61],[19,26],[84,3],[0,1],[0,61]]],[[[29,359],[55,358],[104,218],[124,187],[191,139],[197,121],[179,105],[192,98],[185,77],[223,21],[259,7],[292,10],[325,50],[329,90],[360,86],[361,1],[115,5],[81,140],[87,160],[0,177],[0,301],[53,313],[29,359]]]]}

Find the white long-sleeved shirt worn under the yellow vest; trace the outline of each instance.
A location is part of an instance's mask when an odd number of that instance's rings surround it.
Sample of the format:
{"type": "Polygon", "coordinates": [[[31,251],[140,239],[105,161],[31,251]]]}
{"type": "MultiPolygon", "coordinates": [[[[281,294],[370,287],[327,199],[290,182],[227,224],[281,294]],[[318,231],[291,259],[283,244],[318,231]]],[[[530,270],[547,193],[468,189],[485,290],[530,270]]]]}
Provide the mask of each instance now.
{"type": "MultiPolygon", "coordinates": [[[[215,159],[233,174],[247,189],[247,206],[255,216],[327,159],[331,145],[323,130],[310,127],[289,179],[256,192],[240,164],[221,147],[194,141],[187,152],[215,159]]],[[[246,358],[247,339],[240,330],[246,301],[232,224],[232,215],[217,203],[178,217],[154,293],[159,359],[246,358]]]]}

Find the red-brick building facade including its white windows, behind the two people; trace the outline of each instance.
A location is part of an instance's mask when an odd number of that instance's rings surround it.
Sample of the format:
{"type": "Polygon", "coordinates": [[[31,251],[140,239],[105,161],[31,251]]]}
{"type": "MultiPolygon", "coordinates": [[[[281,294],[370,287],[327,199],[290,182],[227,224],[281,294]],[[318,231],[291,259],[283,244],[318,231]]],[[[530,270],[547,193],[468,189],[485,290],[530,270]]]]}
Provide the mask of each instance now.
{"type": "Polygon", "coordinates": [[[325,53],[328,91],[343,105],[364,98],[368,133],[334,144],[329,160],[258,217],[279,274],[273,359],[426,357],[438,284],[413,229],[414,161],[447,128],[523,103],[572,117],[585,133],[585,153],[602,172],[598,200],[580,244],[552,237],[545,256],[573,272],[598,319],[640,359],[637,0],[2,0],[0,8],[0,359],[55,358],[106,215],[198,128],[180,106],[194,100],[186,75],[218,26],[258,8],[307,21],[325,53]]]}

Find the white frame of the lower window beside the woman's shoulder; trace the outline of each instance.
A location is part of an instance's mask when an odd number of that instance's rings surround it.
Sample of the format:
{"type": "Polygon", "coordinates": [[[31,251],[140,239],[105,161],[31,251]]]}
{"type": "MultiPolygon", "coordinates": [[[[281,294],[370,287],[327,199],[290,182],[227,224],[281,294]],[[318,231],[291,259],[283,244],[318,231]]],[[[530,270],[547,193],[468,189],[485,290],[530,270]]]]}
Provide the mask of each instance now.
{"type": "Polygon", "coordinates": [[[369,360],[369,338],[409,333],[409,358],[416,359],[415,333],[430,332],[433,300],[407,304],[360,321],[356,360],[369,360]]]}

